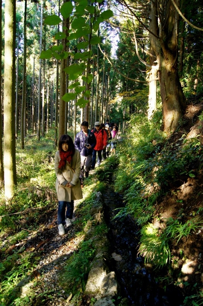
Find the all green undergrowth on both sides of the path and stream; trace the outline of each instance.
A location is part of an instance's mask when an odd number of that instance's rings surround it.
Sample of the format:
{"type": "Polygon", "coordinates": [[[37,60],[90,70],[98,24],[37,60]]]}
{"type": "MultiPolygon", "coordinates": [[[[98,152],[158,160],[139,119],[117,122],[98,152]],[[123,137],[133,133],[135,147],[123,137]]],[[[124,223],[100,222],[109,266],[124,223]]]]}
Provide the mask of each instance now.
{"type": "MultiPolygon", "coordinates": [[[[1,306],[31,305],[34,300],[33,295],[27,299],[11,297],[17,284],[35,270],[39,261],[31,250],[30,253],[24,252],[20,241],[28,237],[29,231],[37,231],[42,210],[56,207],[53,144],[51,135],[40,143],[28,138],[26,150],[21,150],[17,143],[18,186],[10,205],[4,201],[3,190],[0,194],[1,306]]],[[[157,112],[150,122],[145,114],[132,116],[126,134],[122,135],[116,147],[116,155],[101,163],[93,179],[86,179],[84,190],[88,194],[77,208],[76,224],[81,228],[78,235],[84,235],[89,222],[95,225],[95,236],[103,236],[108,231],[106,227],[96,225],[90,209],[94,205],[95,192],[103,193],[108,184],[114,185],[115,191],[122,193],[125,203],[116,217],[129,214],[141,228],[139,254],[155,269],[170,271],[170,276],[166,275],[163,282],[161,277],[159,279],[163,286],[169,281],[183,286],[180,275],[177,276],[172,266],[175,260],[185,260],[184,249],[180,248],[176,258],[173,251],[180,242],[202,229],[202,208],[194,208],[189,218],[182,212],[177,218],[164,221],[159,219],[157,209],[172,185],[180,186],[188,178],[195,179],[200,175],[201,148],[201,135],[188,140],[182,133],[176,142],[166,137],[161,131],[161,112],[157,112]]],[[[94,242],[91,239],[82,241],[61,273],[61,282],[66,280],[67,292],[76,294],[78,298],[83,294],[94,253],[94,242]]],[[[194,287],[194,294],[185,295],[184,306],[187,302],[201,304],[199,284],[194,287]]],[[[41,298],[51,299],[51,293],[46,291],[41,298]]]]}

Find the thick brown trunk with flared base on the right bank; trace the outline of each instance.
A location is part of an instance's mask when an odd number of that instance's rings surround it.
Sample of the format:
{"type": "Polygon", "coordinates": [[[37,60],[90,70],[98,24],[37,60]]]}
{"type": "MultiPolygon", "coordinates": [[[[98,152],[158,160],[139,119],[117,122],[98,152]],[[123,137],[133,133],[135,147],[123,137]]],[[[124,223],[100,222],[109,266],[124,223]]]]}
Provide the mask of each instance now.
{"type": "Polygon", "coordinates": [[[178,127],[186,106],[177,71],[179,15],[171,1],[163,1],[162,15],[157,12],[157,0],[151,1],[150,4],[150,26],[154,33],[150,43],[157,57],[163,130],[166,134],[170,134],[178,127]],[[159,29],[158,17],[160,18],[159,29]]]}

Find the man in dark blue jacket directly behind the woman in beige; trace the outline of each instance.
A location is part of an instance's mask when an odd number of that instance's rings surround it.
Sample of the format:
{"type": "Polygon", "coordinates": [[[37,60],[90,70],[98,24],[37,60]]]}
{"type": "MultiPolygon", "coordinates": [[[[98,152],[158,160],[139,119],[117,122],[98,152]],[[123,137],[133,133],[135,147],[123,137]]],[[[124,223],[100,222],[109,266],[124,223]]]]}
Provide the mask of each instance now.
{"type": "Polygon", "coordinates": [[[84,172],[85,177],[88,178],[90,167],[92,164],[92,150],[96,145],[96,138],[94,133],[88,129],[89,123],[83,121],[81,123],[81,131],[76,134],[75,138],[75,148],[80,152],[81,157],[81,171],[80,171],[80,180],[81,186],[84,184],[84,172]]]}

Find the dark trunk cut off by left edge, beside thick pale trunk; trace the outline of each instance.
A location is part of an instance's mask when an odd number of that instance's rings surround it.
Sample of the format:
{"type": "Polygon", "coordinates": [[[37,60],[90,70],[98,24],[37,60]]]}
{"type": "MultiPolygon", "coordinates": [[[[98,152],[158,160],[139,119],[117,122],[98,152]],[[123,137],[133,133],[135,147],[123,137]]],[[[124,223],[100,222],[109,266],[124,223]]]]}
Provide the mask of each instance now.
{"type": "MultiPolygon", "coordinates": [[[[0,0],[0,18],[2,20],[2,0],[0,0]]],[[[2,63],[2,22],[0,22],[0,63],[2,63]]],[[[3,144],[2,144],[2,77],[0,77],[0,186],[4,184],[3,144]]]]}

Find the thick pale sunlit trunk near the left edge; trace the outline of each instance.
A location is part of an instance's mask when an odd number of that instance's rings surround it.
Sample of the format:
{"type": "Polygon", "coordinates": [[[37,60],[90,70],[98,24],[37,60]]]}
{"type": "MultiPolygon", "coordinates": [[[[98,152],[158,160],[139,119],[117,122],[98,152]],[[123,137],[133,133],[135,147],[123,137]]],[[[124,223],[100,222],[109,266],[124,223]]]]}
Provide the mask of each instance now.
{"type": "Polygon", "coordinates": [[[16,180],[15,138],[15,34],[16,2],[5,3],[5,67],[4,67],[4,181],[5,199],[14,196],[16,180]]]}

